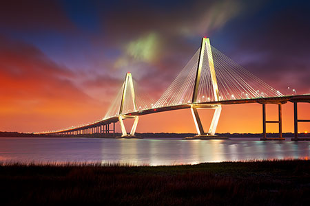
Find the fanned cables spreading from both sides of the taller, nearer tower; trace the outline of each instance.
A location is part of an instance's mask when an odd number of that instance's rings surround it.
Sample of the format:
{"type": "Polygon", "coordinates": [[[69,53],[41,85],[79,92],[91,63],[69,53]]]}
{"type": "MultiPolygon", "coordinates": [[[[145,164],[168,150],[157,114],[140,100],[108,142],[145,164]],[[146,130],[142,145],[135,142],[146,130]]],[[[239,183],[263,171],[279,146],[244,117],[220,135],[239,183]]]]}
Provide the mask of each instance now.
{"type": "MultiPolygon", "coordinates": [[[[200,49],[154,104],[154,108],[192,103],[199,51],[200,49]]],[[[210,61],[207,55],[210,53],[212,54],[213,60],[211,60],[211,63],[214,63],[218,84],[218,101],[282,96],[282,93],[236,64],[236,62],[219,52],[218,49],[211,47],[211,51],[208,51],[207,47],[205,47],[198,86],[198,103],[216,101],[211,80],[210,61]]]]}

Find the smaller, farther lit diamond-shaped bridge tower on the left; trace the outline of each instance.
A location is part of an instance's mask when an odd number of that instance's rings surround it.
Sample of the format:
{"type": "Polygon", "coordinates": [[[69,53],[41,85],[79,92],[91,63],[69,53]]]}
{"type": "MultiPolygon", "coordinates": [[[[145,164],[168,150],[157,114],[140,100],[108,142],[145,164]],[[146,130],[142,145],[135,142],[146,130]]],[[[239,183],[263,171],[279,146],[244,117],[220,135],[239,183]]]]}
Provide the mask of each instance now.
{"type": "Polygon", "coordinates": [[[125,104],[125,98],[126,98],[126,91],[127,88],[130,88],[130,91],[132,93],[132,104],[134,105],[134,111],[136,111],[136,97],[134,93],[134,82],[132,81],[132,74],[130,72],[126,73],[125,77],[125,83],[123,87],[123,94],[121,98],[121,106],[119,108],[119,115],[118,120],[121,124],[121,130],[122,130],[122,136],[121,137],[134,137],[134,133],[136,133],[136,126],[138,125],[138,116],[132,116],[123,114],[123,108],[125,104]],[[130,131],[130,134],[127,133],[123,119],[134,119],[134,124],[132,125],[132,130],[130,131]]]}

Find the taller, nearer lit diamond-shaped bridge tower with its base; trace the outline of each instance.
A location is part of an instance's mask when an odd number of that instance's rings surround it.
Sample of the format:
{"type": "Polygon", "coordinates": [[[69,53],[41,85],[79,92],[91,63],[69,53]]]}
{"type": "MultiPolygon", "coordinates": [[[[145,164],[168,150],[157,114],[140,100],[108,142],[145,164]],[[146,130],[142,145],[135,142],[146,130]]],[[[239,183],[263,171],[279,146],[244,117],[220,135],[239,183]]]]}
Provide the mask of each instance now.
{"type": "Polygon", "coordinates": [[[189,137],[188,139],[223,139],[223,137],[215,136],[216,127],[218,126],[218,119],[220,119],[220,111],[222,110],[222,107],[220,106],[220,104],[216,104],[216,105],[198,104],[197,102],[201,71],[203,69],[203,62],[206,58],[208,60],[210,74],[211,74],[212,87],[214,91],[213,92],[214,100],[218,101],[219,96],[220,96],[218,92],[218,83],[216,81],[216,73],[214,69],[214,62],[213,62],[213,57],[212,57],[212,52],[211,52],[210,40],[207,37],[203,37],[203,40],[201,42],[201,47],[200,47],[200,55],[198,59],[198,67],[196,71],[196,79],[195,79],[192,104],[191,104],[191,111],[192,111],[192,115],[194,118],[194,122],[195,122],[198,135],[193,138],[189,137]],[[205,54],[205,51],[207,51],[207,54],[205,54]],[[201,124],[197,108],[214,109],[214,115],[213,115],[208,133],[205,133],[205,131],[203,130],[203,124],[201,124]]]}

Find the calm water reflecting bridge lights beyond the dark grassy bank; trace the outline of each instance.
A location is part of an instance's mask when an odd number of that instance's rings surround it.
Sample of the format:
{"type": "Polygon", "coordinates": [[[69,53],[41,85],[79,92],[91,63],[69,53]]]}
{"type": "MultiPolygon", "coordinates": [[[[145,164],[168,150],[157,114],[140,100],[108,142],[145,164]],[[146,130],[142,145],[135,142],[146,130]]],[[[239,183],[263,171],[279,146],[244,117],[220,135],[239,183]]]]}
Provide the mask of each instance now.
{"type": "Polygon", "coordinates": [[[309,157],[309,141],[0,138],[2,162],[178,165],[309,157]]]}

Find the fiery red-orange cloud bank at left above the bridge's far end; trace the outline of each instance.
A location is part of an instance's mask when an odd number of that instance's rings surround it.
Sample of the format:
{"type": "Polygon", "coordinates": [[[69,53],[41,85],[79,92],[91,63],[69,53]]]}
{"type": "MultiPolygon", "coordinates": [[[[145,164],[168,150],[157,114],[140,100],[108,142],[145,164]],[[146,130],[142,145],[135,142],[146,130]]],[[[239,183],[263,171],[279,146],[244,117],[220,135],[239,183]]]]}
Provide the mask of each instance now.
{"type": "Polygon", "coordinates": [[[0,36],[1,130],[62,128],[100,119],[104,105],[76,87],[72,78],[75,73],[36,47],[0,36]]]}

